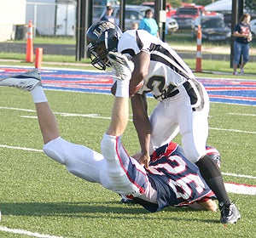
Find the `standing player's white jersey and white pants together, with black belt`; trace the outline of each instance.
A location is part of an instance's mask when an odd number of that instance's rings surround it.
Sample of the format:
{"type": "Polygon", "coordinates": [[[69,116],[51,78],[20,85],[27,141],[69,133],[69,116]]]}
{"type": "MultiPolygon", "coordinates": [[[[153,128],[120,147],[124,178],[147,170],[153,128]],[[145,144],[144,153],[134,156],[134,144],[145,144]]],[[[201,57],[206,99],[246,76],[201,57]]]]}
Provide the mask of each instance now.
{"type": "Polygon", "coordinates": [[[183,150],[190,161],[206,154],[209,98],[189,66],[159,38],[147,31],[131,30],[119,38],[118,51],[131,57],[150,56],[148,75],[138,94],[150,92],[160,101],[150,115],[150,152],[172,141],[179,132],[183,150]]]}

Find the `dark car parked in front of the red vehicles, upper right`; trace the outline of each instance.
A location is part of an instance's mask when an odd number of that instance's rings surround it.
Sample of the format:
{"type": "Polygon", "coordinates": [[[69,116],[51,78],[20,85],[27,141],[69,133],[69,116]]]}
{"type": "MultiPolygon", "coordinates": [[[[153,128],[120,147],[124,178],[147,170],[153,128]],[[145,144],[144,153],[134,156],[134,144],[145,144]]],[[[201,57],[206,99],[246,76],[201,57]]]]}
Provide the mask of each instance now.
{"type": "Polygon", "coordinates": [[[194,21],[193,38],[197,37],[198,26],[201,25],[202,40],[217,42],[229,41],[231,30],[224,23],[224,18],[221,16],[201,16],[194,21]]]}

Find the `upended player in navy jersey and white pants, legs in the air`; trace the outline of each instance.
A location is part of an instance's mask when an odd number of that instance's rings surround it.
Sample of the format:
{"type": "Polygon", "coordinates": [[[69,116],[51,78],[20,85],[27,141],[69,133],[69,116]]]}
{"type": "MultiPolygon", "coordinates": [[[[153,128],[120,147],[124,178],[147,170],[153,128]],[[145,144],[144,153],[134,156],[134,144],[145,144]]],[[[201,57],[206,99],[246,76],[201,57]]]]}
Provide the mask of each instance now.
{"type": "Polygon", "coordinates": [[[133,158],[127,154],[121,136],[129,117],[130,77],[117,80],[112,119],[102,137],[102,154],[61,138],[38,70],[0,79],[0,86],[17,87],[32,94],[44,153],[65,165],[75,176],[135,199],[150,212],[193,203],[216,211],[217,204],[212,200],[215,195],[201,178],[198,168],[183,156],[178,144],[171,142],[155,150],[147,169],[136,160],[136,155],[133,158]]]}

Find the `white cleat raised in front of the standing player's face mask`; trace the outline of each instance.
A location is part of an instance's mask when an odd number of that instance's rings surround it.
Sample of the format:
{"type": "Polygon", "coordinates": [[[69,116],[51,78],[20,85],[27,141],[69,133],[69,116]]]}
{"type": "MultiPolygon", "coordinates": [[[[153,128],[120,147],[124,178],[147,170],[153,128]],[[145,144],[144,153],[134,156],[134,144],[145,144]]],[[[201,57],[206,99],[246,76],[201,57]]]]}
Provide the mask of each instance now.
{"type": "Polygon", "coordinates": [[[119,79],[130,80],[131,73],[134,70],[134,64],[125,54],[118,52],[108,52],[108,59],[113,66],[115,74],[119,79]]]}

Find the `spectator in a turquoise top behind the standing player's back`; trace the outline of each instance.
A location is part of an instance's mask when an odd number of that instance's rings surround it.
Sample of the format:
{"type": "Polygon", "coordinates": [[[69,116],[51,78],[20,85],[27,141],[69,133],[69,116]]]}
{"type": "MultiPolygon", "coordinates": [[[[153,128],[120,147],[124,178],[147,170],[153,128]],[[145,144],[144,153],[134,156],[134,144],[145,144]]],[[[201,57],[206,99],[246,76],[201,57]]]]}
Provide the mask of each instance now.
{"type": "Polygon", "coordinates": [[[148,31],[154,37],[159,38],[159,27],[156,20],[153,18],[153,11],[148,9],[145,13],[143,20],[141,20],[139,28],[141,30],[148,31]]]}

